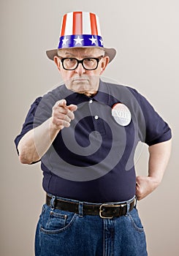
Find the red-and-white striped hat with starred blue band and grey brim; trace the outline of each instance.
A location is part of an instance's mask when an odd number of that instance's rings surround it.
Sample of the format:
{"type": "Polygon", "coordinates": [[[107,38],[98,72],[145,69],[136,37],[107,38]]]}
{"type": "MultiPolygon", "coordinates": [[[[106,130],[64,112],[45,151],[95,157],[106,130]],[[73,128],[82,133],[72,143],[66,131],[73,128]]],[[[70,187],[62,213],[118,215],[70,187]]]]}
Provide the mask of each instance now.
{"type": "Polygon", "coordinates": [[[115,57],[114,48],[104,48],[97,15],[91,12],[69,12],[64,15],[61,23],[58,49],[47,50],[46,53],[53,60],[59,49],[92,47],[102,48],[110,61],[115,57]]]}

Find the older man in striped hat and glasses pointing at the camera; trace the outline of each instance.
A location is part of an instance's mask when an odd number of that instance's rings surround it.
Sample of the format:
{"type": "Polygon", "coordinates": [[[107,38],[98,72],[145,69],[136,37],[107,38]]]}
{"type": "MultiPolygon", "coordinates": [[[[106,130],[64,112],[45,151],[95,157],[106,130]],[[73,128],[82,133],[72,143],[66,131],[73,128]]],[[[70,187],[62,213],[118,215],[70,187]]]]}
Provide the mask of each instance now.
{"type": "Polygon", "coordinates": [[[147,255],[135,197],[161,183],[170,127],[136,90],[99,79],[115,49],[103,47],[93,13],[64,15],[47,56],[64,85],[35,100],[15,139],[20,162],[41,161],[44,174],[36,255],[147,255]],[[139,141],[150,157],[148,177],[136,178],[139,141]]]}

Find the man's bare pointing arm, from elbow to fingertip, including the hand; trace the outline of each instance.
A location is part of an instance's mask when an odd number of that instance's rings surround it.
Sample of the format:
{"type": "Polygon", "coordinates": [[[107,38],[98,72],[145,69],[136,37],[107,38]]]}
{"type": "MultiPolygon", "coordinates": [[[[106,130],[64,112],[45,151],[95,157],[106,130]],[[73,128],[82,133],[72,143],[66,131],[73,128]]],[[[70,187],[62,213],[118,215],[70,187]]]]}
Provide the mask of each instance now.
{"type": "Polygon", "coordinates": [[[69,127],[75,118],[76,105],[66,106],[66,100],[61,99],[53,106],[53,113],[44,123],[28,131],[18,144],[19,159],[23,164],[37,162],[53,143],[58,132],[69,127]]]}

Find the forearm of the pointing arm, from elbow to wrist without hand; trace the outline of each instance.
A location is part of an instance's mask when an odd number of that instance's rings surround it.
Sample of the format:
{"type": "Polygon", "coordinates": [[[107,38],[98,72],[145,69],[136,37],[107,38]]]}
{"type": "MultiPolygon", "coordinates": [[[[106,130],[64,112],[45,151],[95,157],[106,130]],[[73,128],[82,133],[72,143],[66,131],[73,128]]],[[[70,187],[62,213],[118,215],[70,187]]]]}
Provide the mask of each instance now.
{"type": "Polygon", "coordinates": [[[31,129],[18,144],[19,159],[23,164],[37,162],[45,154],[59,130],[51,125],[51,119],[47,119],[39,127],[31,129]]]}

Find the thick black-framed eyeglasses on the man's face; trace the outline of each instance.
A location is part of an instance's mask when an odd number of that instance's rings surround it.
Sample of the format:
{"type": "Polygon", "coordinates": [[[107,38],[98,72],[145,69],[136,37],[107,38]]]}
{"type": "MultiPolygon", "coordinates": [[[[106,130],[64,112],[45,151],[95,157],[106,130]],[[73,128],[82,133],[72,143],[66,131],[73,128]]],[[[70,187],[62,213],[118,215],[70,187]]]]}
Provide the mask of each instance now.
{"type": "Polygon", "coordinates": [[[76,59],[76,58],[59,58],[61,60],[62,66],[66,70],[75,70],[79,63],[82,64],[83,68],[86,70],[94,70],[98,67],[99,61],[103,56],[99,58],[85,58],[85,59],[76,59]]]}

